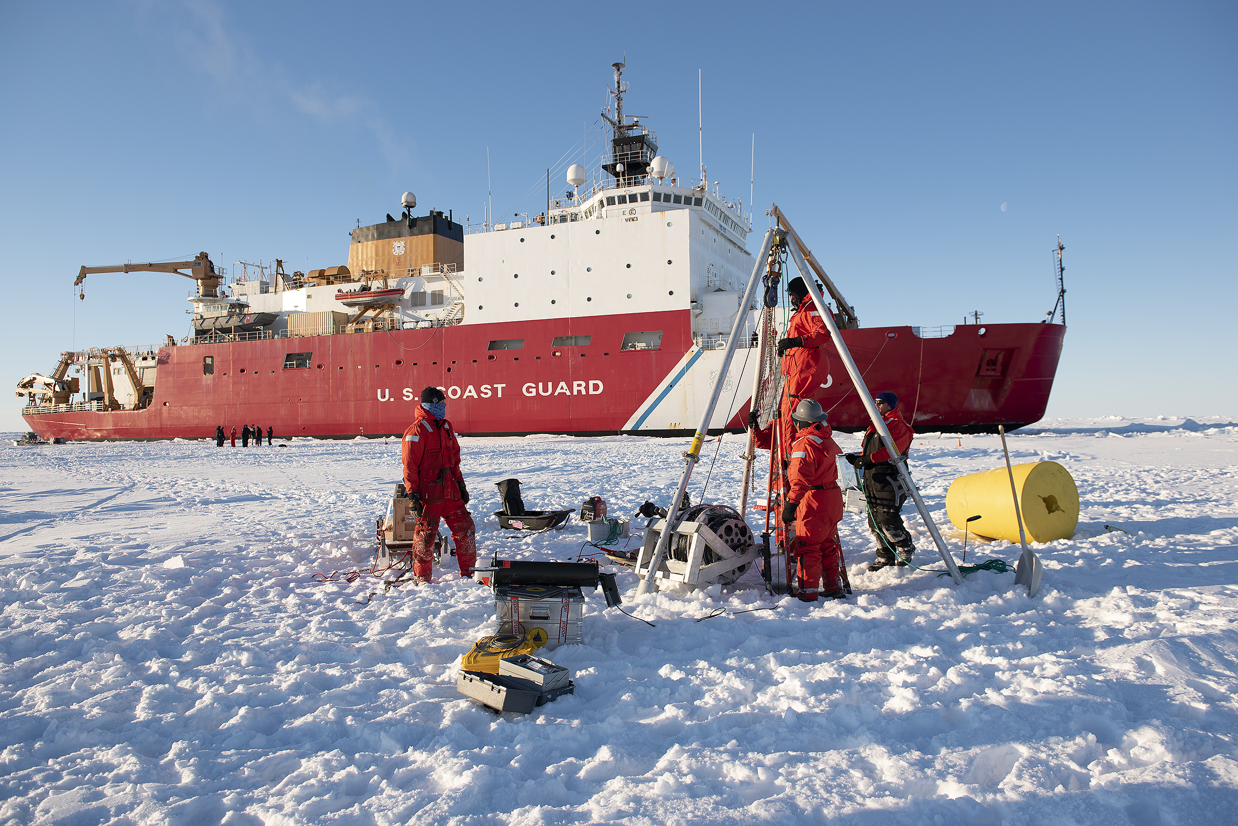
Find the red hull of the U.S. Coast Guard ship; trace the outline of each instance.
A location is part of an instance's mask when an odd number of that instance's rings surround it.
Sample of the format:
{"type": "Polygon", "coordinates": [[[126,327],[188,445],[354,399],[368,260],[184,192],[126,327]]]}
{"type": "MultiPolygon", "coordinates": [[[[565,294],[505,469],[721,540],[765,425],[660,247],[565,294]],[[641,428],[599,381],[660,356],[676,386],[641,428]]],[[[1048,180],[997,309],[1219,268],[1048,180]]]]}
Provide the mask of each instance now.
{"type": "MultiPolygon", "coordinates": [[[[1044,415],[1065,330],[963,325],[947,338],[920,339],[891,326],[844,330],[843,338],[869,390],[898,393],[917,429],[967,433],[1044,415]]],[[[147,408],[24,418],[45,439],[208,438],[217,425],[239,432],[244,424],[281,438],[386,435],[404,432],[421,390],[433,385],[447,388],[448,415],[462,434],[614,434],[691,349],[688,310],[162,347],[147,408]],[[619,349],[625,331],[657,328],[660,349],[619,349]],[[550,345],[563,335],[592,343],[550,345]],[[524,349],[487,350],[491,340],[516,338],[524,349]],[[311,366],[286,368],[295,351],[312,352],[311,366]],[[204,356],[213,357],[213,375],[204,375],[204,356]]],[[[818,377],[828,387],[817,398],[834,428],[863,428],[864,408],[837,352],[826,350],[818,377]]],[[[745,412],[728,427],[739,428],[745,412]]],[[[695,424],[635,432],[673,435],[695,424]]]]}

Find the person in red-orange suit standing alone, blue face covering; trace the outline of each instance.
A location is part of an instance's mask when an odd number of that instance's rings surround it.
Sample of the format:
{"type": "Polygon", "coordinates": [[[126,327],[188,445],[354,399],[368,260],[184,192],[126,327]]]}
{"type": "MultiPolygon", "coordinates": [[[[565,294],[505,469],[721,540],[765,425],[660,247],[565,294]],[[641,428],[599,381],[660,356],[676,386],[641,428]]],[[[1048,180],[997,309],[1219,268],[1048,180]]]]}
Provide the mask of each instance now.
{"type": "Polygon", "coordinates": [[[412,532],[412,575],[421,584],[433,571],[433,543],[438,519],[447,523],[456,542],[461,576],[469,576],[477,563],[477,527],[465,509],[468,488],[461,474],[461,444],[447,420],[447,397],[437,387],[421,391],[421,404],[412,424],[404,432],[404,486],[417,514],[412,532]]]}

